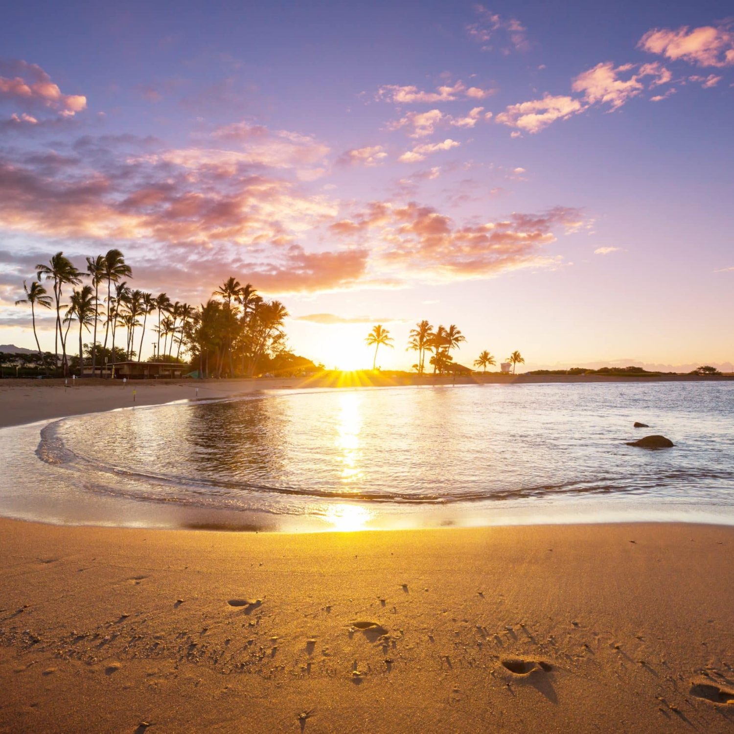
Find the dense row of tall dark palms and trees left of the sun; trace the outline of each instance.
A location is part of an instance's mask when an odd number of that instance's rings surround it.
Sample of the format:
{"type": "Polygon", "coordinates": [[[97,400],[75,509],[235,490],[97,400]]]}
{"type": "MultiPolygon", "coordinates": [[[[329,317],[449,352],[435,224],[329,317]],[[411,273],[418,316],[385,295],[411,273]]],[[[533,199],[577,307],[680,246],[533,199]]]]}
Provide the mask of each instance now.
{"type": "MultiPolygon", "coordinates": [[[[98,353],[117,355],[115,341],[124,337],[126,359],[140,361],[149,317],[156,319],[153,357],[157,360],[180,361],[182,349],[192,360],[198,357],[200,373],[221,377],[227,358],[228,374],[252,375],[263,355],[285,348],[283,321],[288,316],[278,301],[267,302],[256,294],[250,283],[242,286],[230,277],[217,288],[200,308],[172,301],[167,294],[154,296],[128,286],[126,278],[132,269],[120,250],[87,258],[86,272],[79,270],[63,252],[57,252],[48,264],[36,266],[37,280],[30,286],[23,281],[25,297],[16,305],[30,305],[33,335],[38,353],[36,308],[56,311],[54,354],[59,354],[64,374],[68,374],[68,335],[71,324],[79,326],[79,365],[84,363],[83,332],[92,333],[87,347],[92,374],[97,368],[98,353]],[[83,283],[84,278],[90,278],[83,283]],[[45,283],[51,283],[51,294],[45,283]],[[68,294],[68,288],[72,291],[68,294]],[[68,298],[68,300],[67,300],[68,298]],[[63,312],[63,313],[62,313],[63,312]],[[98,330],[104,330],[104,341],[98,341],[98,330]],[[137,341],[137,329],[140,329],[137,341]],[[111,343],[108,352],[107,344],[111,343]],[[162,341],[162,344],[161,344],[162,341]],[[136,349],[137,345],[137,349],[136,349]],[[211,362],[210,362],[211,360],[211,362]],[[211,365],[211,369],[210,369],[211,365]]],[[[100,371],[102,366],[100,365],[100,371]]]]}

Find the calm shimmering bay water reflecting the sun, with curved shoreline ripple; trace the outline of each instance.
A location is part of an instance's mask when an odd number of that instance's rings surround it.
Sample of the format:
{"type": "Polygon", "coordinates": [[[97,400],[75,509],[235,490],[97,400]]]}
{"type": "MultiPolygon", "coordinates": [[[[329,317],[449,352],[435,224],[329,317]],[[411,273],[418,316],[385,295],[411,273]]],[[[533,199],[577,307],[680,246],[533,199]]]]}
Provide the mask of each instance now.
{"type": "Polygon", "coordinates": [[[4,429],[0,446],[0,514],[56,523],[734,523],[734,382],[264,393],[4,429]],[[650,434],[675,447],[625,443],[650,434]]]}

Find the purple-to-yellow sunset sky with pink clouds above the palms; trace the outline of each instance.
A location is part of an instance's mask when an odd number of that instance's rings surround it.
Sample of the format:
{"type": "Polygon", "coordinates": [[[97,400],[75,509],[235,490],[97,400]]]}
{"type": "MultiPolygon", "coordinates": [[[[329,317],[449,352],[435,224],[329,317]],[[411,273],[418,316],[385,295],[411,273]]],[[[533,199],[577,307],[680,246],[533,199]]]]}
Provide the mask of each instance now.
{"type": "MultiPolygon", "coordinates": [[[[288,344],[407,368],[734,362],[729,2],[8,4],[0,342],[23,279],[118,247],[199,304],[230,275],[288,344]],[[727,17],[728,16],[728,17],[727,17]]],[[[53,319],[39,321],[52,349],[53,319]]],[[[147,357],[144,351],[143,357],[147,357]]]]}

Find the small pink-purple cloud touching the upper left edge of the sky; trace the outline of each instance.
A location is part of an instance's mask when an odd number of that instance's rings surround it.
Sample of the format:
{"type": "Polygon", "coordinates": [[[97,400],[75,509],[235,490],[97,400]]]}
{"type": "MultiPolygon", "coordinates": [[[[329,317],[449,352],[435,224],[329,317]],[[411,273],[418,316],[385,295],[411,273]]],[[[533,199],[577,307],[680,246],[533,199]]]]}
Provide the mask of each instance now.
{"type": "Polygon", "coordinates": [[[84,95],[62,94],[46,71],[37,64],[15,59],[0,63],[0,99],[9,100],[21,109],[50,109],[62,117],[73,117],[87,107],[84,95]]]}

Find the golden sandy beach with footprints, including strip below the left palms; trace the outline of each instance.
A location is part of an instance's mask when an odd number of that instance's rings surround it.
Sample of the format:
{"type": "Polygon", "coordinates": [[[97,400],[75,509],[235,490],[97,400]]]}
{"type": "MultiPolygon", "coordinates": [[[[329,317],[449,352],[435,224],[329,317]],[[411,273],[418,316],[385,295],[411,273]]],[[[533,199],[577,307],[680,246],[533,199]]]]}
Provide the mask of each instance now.
{"type": "MultiPolygon", "coordinates": [[[[199,385],[212,397],[302,386],[199,385]]],[[[9,380],[0,415],[26,423],[195,387],[9,380]]],[[[734,528],[298,535],[0,520],[0,549],[2,731],[734,724],[734,528]]]]}

